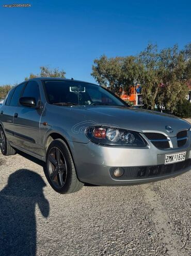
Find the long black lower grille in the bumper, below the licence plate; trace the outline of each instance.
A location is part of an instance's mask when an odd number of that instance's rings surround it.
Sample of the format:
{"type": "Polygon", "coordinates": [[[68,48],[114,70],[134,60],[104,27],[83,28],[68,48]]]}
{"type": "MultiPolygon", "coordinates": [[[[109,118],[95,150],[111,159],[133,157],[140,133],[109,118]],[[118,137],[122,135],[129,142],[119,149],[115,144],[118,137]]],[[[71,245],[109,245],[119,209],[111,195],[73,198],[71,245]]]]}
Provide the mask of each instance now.
{"type": "MultiPolygon", "coordinates": [[[[176,174],[185,168],[191,168],[191,159],[187,159],[183,162],[174,163],[174,164],[161,164],[161,165],[152,165],[152,166],[132,166],[132,167],[122,167],[124,169],[124,174],[121,177],[118,177],[118,180],[131,180],[131,179],[146,179],[158,176],[165,176],[169,174],[176,174]]],[[[114,170],[117,167],[110,168],[110,175],[112,178],[114,176],[114,170]]]]}

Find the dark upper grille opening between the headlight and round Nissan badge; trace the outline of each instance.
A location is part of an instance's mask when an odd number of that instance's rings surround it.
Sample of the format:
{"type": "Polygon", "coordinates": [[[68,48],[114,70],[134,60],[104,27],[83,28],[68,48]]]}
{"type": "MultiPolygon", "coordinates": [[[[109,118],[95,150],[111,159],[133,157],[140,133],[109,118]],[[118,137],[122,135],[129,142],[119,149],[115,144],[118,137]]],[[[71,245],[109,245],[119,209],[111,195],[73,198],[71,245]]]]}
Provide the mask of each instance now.
{"type": "Polygon", "coordinates": [[[144,133],[151,143],[158,149],[170,148],[169,139],[162,133],[144,133]]]}

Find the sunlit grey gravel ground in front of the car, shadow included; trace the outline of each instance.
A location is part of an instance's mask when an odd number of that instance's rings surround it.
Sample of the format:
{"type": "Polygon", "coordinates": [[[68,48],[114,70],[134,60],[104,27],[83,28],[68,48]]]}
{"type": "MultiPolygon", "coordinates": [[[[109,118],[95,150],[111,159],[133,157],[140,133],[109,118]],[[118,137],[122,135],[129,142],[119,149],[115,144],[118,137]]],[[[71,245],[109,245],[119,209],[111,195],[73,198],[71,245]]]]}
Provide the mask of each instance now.
{"type": "Polygon", "coordinates": [[[60,195],[42,166],[0,154],[0,255],[191,255],[191,172],[60,195]]]}

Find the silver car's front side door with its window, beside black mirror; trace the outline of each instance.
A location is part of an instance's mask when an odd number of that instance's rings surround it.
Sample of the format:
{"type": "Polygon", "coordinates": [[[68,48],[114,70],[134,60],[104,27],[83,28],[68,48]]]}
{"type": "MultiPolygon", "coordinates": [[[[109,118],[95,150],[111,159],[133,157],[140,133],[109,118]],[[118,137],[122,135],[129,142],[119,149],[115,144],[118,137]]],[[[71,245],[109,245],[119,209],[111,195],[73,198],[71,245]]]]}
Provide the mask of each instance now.
{"type": "MultiPolygon", "coordinates": [[[[22,96],[34,97],[37,106],[40,101],[40,91],[37,81],[29,80],[22,96]]],[[[39,128],[41,113],[41,108],[26,107],[19,104],[17,111],[13,115],[16,145],[40,156],[42,155],[39,128]]]]}

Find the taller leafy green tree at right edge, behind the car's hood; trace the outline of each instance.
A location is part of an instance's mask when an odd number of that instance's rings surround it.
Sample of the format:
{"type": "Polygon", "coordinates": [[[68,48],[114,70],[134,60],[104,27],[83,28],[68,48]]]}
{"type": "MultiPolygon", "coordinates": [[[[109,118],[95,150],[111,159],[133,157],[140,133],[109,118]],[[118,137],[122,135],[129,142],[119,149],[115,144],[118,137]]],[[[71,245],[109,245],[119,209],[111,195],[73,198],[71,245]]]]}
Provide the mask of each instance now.
{"type": "Polygon", "coordinates": [[[176,110],[188,93],[189,47],[179,51],[175,45],[158,51],[156,45],[148,45],[138,58],[144,66],[139,82],[146,107],[154,109],[156,104],[170,112],[176,110]]]}

